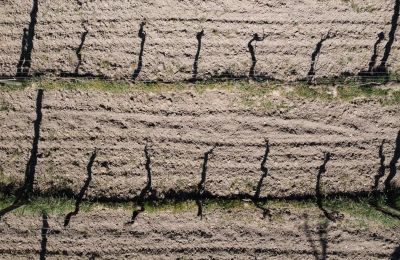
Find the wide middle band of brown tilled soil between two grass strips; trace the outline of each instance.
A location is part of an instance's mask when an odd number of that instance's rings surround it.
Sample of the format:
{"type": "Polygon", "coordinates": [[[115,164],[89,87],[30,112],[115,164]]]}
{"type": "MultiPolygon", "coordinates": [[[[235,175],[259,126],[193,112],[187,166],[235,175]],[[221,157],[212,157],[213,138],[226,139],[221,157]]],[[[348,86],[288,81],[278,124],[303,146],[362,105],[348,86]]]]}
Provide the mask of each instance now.
{"type": "MultiPolygon", "coordinates": [[[[1,92],[3,187],[24,180],[36,96],[35,90],[1,92]]],[[[383,107],[376,99],[322,102],[270,96],[266,101],[278,108],[263,108],[244,100],[243,93],[219,90],[45,91],[34,189],[77,194],[95,148],[99,151],[86,196],[110,201],[131,200],[145,187],[146,144],[157,197],[196,192],[204,154],[216,145],[207,163],[205,190],[218,197],[253,196],[265,139],[270,142],[269,173],[261,197],[314,195],[326,152],[332,156],[321,179],[324,194],[370,192],[382,140],[386,166],[394,156],[398,106],[383,107]]]]}

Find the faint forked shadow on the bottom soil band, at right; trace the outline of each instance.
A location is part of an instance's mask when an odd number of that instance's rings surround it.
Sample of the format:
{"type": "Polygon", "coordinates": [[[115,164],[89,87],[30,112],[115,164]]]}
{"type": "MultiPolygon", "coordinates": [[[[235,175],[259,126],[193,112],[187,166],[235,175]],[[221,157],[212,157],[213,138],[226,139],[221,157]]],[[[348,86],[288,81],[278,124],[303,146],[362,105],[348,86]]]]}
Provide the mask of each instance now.
{"type": "Polygon", "coordinates": [[[311,249],[313,251],[314,258],[316,260],[325,260],[327,259],[327,251],[328,251],[328,226],[329,222],[325,221],[324,223],[320,223],[318,227],[318,236],[319,236],[319,243],[321,245],[321,256],[319,251],[317,250],[317,247],[315,245],[315,242],[312,238],[312,232],[310,230],[310,227],[308,226],[308,216],[305,216],[306,220],[304,223],[304,230],[306,233],[306,237],[308,240],[308,243],[311,246],[311,249]]]}

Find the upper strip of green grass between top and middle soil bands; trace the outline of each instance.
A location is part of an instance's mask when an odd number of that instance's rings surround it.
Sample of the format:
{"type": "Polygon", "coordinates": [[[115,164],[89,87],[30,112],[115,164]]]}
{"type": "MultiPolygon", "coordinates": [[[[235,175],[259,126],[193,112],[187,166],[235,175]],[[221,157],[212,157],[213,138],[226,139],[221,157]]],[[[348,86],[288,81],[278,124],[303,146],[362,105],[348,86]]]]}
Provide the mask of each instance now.
{"type": "MultiPolygon", "coordinates": [[[[277,104],[271,101],[271,96],[281,96],[289,99],[300,98],[317,100],[323,102],[341,101],[350,102],[357,98],[378,99],[382,105],[400,105],[400,90],[395,88],[382,88],[376,86],[377,82],[361,82],[356,79],[338,78],[338,86],[321,84],[311,86],[305,82],[284,84],[278,81],[264,83],[253,83],[247,81],[237,82],[198,82],[190,83],[137,83],[132,84],[126,81],[107,80],[50,80],[36,79],[22,83],[13,83],[1,87],[1,91],[19,91],[27,88],[42,88],[45,90],[84,90],[103,91],[111,93],[125,92],[183,92],[195,91],[203,93],[208,90],[221,90],[225,92],[241,93],[241,103],[248,107],[260,107],[264,109],[286,108],[284,101],[277,104]],[[376,83],[376,84],[375,84],[376,83]],[[375,84],[375,85],[374,85],[375,84]]],[[[335,84],[336,84],[335,83],[335,84]]],[[[378,85],[381,85],[379,83],[378,85]]],[[[10,104],[1,102],[0,110],[7,110],[10,104]]]]}

